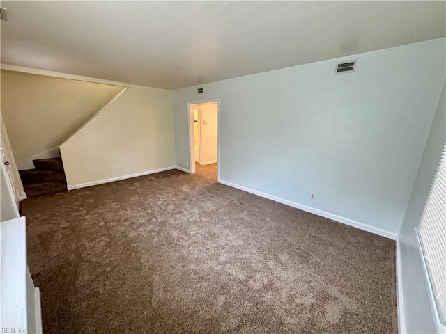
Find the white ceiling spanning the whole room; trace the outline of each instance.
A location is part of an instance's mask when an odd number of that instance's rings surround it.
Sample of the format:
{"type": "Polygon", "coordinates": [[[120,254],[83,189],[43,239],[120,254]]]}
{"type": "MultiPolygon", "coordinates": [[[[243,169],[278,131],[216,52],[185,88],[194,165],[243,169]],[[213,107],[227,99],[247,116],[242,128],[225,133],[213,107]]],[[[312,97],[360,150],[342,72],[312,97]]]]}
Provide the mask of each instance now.
{"type": "Polygon", "coordinates": [[[1,63],[181,88],[446,35],[445,1],[1,1],[1,63]]]}

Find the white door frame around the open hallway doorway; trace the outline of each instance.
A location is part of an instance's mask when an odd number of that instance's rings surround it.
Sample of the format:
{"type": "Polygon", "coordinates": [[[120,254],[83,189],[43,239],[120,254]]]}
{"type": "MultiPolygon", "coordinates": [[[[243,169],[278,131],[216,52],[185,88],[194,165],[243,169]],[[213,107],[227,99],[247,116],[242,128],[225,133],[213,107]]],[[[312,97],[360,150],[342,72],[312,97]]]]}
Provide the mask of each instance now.
{"type": "MultiPolygon", "coordinates": [[[[195,145],[194,145],[194,109],[193,104],[203,104],[217,102],[217,179],[220,180],[220,99],[199,100],[187,102],[187,114],[189,116],[189,173],[195,174],[195,145]]],[[[201,140],[201,138],[200,138],[201,140]]],[[[201,144],[201,143],[200,143],[201,144]]],[[[201,154],[201,152],[200,152],[201,154]]],[[[200,157],[201,158],[201,157],[200,157]]]]}

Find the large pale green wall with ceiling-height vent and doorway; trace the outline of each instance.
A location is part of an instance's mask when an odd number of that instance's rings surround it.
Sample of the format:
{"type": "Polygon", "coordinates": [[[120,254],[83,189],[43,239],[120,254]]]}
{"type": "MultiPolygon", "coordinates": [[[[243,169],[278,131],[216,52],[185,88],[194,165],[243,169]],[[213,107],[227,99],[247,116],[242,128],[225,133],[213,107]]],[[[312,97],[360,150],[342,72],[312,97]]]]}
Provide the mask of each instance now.
{"type": "Polygon", "coordinates": [[[445,80],[445,46],[441,38],[217,81],[203,94],[174,90],[177,164],[189,168],[187,102],[220,99],[224,182],[395,236],[445,80]],[[356,72],[334,74],[351,59],[356,72]]]}

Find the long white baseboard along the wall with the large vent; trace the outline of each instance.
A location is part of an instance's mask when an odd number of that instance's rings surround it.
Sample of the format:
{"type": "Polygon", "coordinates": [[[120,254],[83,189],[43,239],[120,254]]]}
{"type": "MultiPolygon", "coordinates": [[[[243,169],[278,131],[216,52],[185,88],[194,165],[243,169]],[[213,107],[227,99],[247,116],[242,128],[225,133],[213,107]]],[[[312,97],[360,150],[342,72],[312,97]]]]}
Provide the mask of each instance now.
{"type": "Polygon", "coordinates": [[[353,221],[352,219],[345,218],[342,216],[337,216],[336,214],[330,214],[330,212],[325,212],[325,211],[322,211],[319,209],[314,209],[313,207],[307,207],[307,205],[302,205],[302,204],[299,204],[296,202],[291,202],[291,200],[285,200],[284,198],[272,196],[268,193],[262,193],[261,191],[256,191],[254,189],[250,189],[245,186],[239,186],[238,184],[233,184],[231,182],[224,181],[220,178],[217,180],[217,182],[221,183],[221,184],[225,184],[226,186],[232,186],[233,188],[247,191],[248,193],[254,193],[254,195],[261,196],[263,198],[268,198],[268,200],[274,200],[275,202],[279,202],[284,205],[289,205],[290,207],[295,207],[296,209],[300,209],[302,211],[309,212],[311,214],[316,214],[317,216],[331,219],[332,221],[337,221],[338,223],[343,223],[345,225],[353,226],[353,228],[359,228],[360,230],[378,234],[381,237],[386,237],[386,238],[389,238],[392,240],[397,239],[396,233],[382,230],[380,228],[375,228],[374,226],[360,223],[359,221],[353,221]]]}

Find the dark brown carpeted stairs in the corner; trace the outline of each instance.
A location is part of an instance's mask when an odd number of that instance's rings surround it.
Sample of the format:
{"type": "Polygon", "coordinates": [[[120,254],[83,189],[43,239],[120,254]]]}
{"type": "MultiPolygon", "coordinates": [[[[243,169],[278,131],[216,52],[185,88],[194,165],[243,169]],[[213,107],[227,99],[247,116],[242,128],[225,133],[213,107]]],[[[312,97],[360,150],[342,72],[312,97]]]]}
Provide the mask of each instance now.
{"type": "Polygon", "coordinates": [[[20,170],[26,196],[40,196],[67,190],[61,158],[33,160],[36,169],[20,170]]]}

